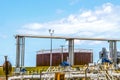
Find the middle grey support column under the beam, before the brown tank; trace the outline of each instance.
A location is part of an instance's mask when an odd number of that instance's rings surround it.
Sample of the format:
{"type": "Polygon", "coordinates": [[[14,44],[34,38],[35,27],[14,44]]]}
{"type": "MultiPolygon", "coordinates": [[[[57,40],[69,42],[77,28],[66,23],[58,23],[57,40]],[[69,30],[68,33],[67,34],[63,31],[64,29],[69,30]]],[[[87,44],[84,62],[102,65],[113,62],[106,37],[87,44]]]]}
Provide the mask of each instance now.
{"type": "Polygon", "coordinates": [[[74,65],[74,39],[68,39],[68,42],[69,61],[71,65],[74,65]]]}

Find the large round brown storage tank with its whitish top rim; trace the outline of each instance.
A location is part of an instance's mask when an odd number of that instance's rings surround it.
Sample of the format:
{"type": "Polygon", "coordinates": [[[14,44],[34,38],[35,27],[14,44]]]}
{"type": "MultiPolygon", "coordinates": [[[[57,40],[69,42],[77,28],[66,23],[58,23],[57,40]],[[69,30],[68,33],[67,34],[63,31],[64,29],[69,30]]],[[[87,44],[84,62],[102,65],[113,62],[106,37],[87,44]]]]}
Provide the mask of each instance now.
{"type": "MultiPolygon", "coordinates": [[[[61,62],[69,62],[68,49],[52,50],[52,66],[58,66],[61,62]]],[[[36,55],[36,66],[50,66],[50,50],[40,50],[36,55]]],[[[93,62],[92,49],[74,49],[74,65],[85,65],[93,62]]]]}

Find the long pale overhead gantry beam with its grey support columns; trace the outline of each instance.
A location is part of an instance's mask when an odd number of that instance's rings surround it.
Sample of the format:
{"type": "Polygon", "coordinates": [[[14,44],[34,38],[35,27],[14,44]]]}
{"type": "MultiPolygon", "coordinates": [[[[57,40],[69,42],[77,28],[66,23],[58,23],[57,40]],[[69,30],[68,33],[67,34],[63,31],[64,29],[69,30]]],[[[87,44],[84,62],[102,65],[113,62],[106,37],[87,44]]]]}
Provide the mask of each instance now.
{"type": "Polygon", "coordinates": [[[65,37],[65,36],[43,36],[43,35],[24,35],[18,34],[16,38],[16,68],[24,67],[25,55],[25,38],[48,38],[51,39],[65,39],[68,41],[69,60],[70,64],[74,65],[74,40],[92,40],[92,41],[107,41],[109,43],[109,51],[112,56],[113,62],[116,64],[117,58],[117,42],[120,39],[107,39],[107,38],[81,38],[81,37],[65,37]],[[21,59],[20,59],[21,58],[21,59]],[[21,60],[21,65],[20,65],[21,60]]]}

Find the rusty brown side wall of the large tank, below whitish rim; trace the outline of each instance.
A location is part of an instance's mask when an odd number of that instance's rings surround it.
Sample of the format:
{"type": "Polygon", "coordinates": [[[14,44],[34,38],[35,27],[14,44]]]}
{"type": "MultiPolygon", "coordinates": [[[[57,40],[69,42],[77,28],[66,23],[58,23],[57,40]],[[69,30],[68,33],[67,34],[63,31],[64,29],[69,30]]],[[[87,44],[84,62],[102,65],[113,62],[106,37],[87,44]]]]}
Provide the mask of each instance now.
{"type": "MultiPolygon", "coordinates": [[[[91,52],[75,52],[74,65],[85,65],[93,62],[93,53],[91,52]]],[[[63,61],[67,61],[68,53],[63,53],[63,61]]],[[[61,63],[61,53],[52,53],[52,66],[58,66],[61,63]]],[[[36,66],[49,66],[50,54],[37,54],[36,66]]]]}

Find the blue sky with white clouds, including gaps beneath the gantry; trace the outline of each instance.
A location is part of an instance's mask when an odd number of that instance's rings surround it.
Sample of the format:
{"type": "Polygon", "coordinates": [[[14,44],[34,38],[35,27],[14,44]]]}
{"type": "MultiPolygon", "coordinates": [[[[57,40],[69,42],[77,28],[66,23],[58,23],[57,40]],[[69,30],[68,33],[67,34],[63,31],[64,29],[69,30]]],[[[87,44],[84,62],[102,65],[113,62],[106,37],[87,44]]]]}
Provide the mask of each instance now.
{"type": "MultiPolygon", "coordinates": [[[[56,36],[120,39],[119,25],[119,0],[0,0],[0,65],[5,55],[15,65],[16,34],[49,35],[53,29],[56,36]]],[[[53,41],[53,48],[67,43],[53,41]]],[[[102,47],[108,43],[75,41],[75,48],[93,49],[94,61],[102,47]]],[[[25,65],[35,66],[36,51],[49,48],[49,39],[26,39],[25,65]]]]}

